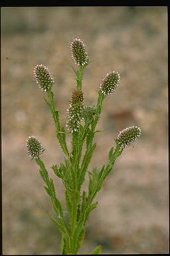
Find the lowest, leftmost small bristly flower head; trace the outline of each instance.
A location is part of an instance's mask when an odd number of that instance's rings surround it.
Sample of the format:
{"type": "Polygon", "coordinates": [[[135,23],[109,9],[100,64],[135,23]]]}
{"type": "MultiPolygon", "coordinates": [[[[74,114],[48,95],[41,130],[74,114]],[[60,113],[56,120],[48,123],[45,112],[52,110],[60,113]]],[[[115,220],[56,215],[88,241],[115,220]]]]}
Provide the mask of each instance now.
{"type": "Polygon", "coordinates": [[[26,143],[27,152],[32,159],[38,158],[45,149],[43,149],[41,142],[34,136],[30,136],[26,143]]]}

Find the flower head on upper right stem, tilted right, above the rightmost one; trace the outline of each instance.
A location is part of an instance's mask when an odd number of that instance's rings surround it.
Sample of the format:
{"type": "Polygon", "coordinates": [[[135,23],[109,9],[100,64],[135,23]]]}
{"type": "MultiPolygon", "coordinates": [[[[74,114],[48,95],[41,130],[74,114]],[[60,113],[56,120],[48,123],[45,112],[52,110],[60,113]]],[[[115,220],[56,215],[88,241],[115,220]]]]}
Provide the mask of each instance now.
{"type": "Polygon", "coordinates": [[[116,71],[110,71],[102,79],[100,90],[105,96],[109,95],[118,87],[118,83],[120,83],[120,74],[116,71]]]}

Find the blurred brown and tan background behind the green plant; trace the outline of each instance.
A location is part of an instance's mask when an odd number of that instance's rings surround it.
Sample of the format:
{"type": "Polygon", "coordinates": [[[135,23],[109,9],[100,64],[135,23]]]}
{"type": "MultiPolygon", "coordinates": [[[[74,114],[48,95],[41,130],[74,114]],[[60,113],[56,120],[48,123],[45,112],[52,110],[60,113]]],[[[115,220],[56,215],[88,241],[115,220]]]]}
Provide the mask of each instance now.
{"type": "MultiPolygon", "coordinates": [[[[25,143],[29,135],[41,140],[42,159],[54,177],[50,166],[64,156],[33,68],[42,63],[52,72],[64,125],[76,86],[68,47],[72,37],[84,39],[92,60],[84,73],[87,105],[96,104],[96,89],[108,71],[122,77],[105,100],[98,124],[103,132],[96,134],[90,168],[106,163],[118,130],[138,125],[143,132],[98,193],[80,253],[97,245],[102,253],[168,253],[167,7],[3,7],[3,254],[60,251],[60,234],[47,215],[54,216],[52,205],[25,143]]],[[[54,180],[64,203],[62,183],[54,180]]]]}

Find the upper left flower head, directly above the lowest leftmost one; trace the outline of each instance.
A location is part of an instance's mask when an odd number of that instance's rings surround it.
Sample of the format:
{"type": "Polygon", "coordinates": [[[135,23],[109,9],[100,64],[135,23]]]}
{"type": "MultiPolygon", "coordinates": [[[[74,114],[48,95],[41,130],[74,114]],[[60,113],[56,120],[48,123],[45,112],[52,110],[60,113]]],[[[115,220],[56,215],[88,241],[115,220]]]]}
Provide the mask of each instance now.
{"type": "Polygon", "coordinates": [[[36,65],[34,69],[35,80],[42,91],[48,91],[54,84],[54,79],[47,67],[44,65],[36,65]]]}

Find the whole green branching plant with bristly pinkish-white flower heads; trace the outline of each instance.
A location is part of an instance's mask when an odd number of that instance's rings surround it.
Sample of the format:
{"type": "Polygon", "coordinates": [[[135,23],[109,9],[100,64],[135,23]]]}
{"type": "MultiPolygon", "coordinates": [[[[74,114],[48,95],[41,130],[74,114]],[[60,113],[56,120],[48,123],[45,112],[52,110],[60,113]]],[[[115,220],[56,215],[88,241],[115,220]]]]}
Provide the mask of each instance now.
{"type": "MultiPolygon", "coordinates": [[[[122,151],[129,145],[132,145],[141,135],[141,129],[132,126],[120,131],[115,139],[115,147],[112,147],[108,153],[108,163],[101,168],[94,168],[89,171],[89,164],[92,154],[96,149],[94,135],[96,125],[100,119],[103,109],[104,99],[107,95],[113,93],[120,83],[120,74],[116,71],[110,71],[106,74],[98,88],[98,101],[96,106],[84,105],[84,95],[82,91],[82,77],[84,69],[90,63],[88,53],[84,42],[80,38],[75,38],[70,43],[72,59],[78,65],[78,70],[74,70],[76,75],[76,88],[72,92],[70,105],[67,109],[66,127],[60,125],[60,113],[54,107],[52,86],[54,79],[51,73],[44,65],[36,65],[34,69],[35,80],[37,84],[46,92],[48,99],[45,99],[56,129],[56,138],[64,152],[64,163],[52,165],[52,171],[62,180],[65,187],[66,209],[69,215],[69,221],[64,216],[63,206],[58,199],[56,188],[52,178],[42,161],[41,155],[44,149],[39,139],[31,136],[27,139],[27,151],[32,159],[40,167],[40,174],[44,181],[44,189],[49,195],[56,217],[50,217],[62,235],[60,245],[61,254],[76,255],[78,249],[82,246],[85,235],[85,225],[90,212],[93,211],[98,202],[94,202],[96,194],[102,188],[104,180],[113,169],[116,159],[122,154],[122,151]],[[72,134],[71,149],[68,149],[66,135],[72,134]],[[82,153],[85,149],[84,154],[82,153]],[[89,175],[87,191],[82,191],[82,184],[86,173],[89,175]]],[[[100,254],[101,247],[98,246],[90,254],[100,254]]]]}

